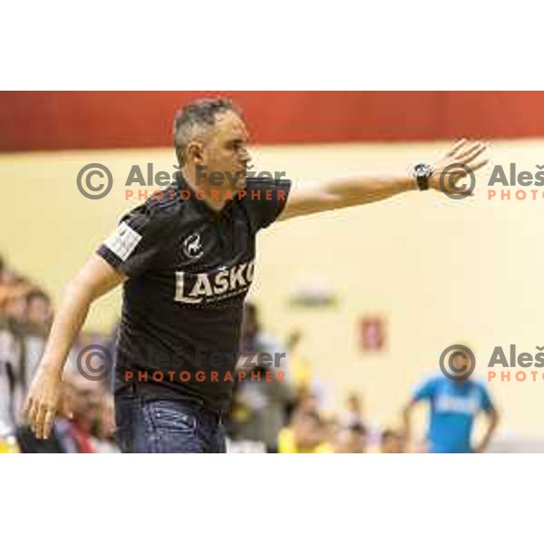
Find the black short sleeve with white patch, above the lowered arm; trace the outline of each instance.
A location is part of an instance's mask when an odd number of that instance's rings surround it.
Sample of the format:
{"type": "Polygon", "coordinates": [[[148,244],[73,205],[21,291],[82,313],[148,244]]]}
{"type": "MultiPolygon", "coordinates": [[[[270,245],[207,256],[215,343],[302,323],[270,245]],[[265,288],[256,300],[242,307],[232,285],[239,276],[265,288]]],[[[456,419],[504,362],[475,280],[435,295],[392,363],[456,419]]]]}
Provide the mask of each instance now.
{"type": "Polygon", "coordinates": [[[132,209],[96,252],[128,277],[139,276],[157,261],[170,224],[168,212],[152,213],[145,205],[132,209]]]}

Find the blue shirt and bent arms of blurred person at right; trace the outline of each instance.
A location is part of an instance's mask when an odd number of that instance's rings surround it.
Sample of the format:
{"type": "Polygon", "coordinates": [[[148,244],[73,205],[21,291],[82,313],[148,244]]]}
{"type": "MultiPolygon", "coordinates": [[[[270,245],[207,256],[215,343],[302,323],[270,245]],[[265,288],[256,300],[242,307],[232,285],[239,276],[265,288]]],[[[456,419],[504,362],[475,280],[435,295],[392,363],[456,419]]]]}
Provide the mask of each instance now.
{"type": "Polygon", "coordinates": [[[499,421],[485,384],[470,378],[452,380],[439,374],[421,384],[404,409],[407,437],[410,437],[413,408],[419,403],[429,403],[430,406],[427,441],[428,452],[431,453],[484,452],[499,421]],[[473,447],[472,427],[481,413],[487,416],[487,427],[481,441],[473,447]]]}

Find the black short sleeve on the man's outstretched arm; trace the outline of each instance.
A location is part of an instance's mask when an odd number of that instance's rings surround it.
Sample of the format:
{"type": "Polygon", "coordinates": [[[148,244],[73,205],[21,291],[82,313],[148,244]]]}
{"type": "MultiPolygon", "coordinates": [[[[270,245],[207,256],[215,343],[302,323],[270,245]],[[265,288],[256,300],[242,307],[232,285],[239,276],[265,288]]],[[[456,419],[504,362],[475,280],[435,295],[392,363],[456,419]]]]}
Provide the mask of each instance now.
{"type": "Polygon", "coordinates": [[[240,203],[248,213],[254,232],[267,228],[277,219],[285,208],[290,189],[290,180],[248,178],[245,188],[241,189],[245,195],[240,203]]]}

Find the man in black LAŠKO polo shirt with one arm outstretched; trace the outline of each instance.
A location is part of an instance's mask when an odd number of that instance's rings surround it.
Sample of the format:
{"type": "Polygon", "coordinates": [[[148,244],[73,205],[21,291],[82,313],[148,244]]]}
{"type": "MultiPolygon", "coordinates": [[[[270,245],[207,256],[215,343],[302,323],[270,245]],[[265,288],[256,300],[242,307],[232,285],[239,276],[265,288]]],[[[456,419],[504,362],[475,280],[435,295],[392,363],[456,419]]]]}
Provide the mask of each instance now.
{"type": "Polygon", "coordinates": [[[434,165],[316,189],[248,179],[248,132],[222,99],[181,110],[174,142],[177,179],[161,199],[126,214],[66,290],[26,403],[38,438],[49,436],[63,364],[89,306],[123,283],[115,371],[121,450],[224,452],[221,421],[240,379],[235,367],[257,232],[275,220],[441,189],[441,173],[452,164],[477,170],[487,161],[483,144],[459,141],[434,165]]]}

